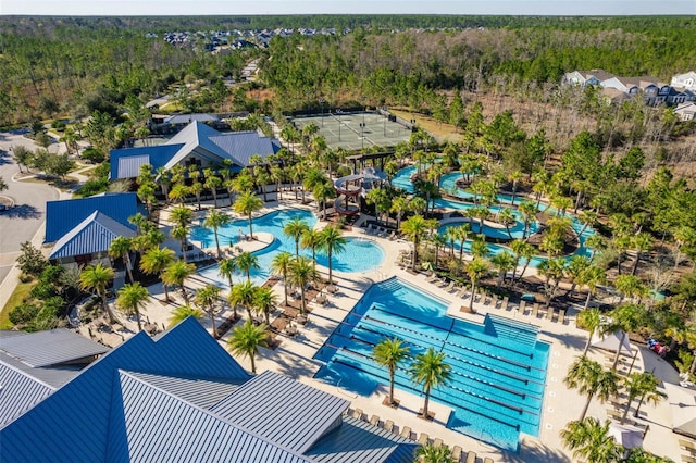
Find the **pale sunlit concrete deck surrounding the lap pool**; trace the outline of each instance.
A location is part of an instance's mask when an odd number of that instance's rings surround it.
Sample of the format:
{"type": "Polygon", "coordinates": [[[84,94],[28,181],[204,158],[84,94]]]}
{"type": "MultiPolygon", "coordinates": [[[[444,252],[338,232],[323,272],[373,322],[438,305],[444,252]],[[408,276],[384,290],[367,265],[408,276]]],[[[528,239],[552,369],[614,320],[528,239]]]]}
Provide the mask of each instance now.
{"type": "MultiPolygon", "coordinates": [[[[288,197],[291,197],[291,195],[288,195],[288,197]]],[[[260,214],[278,209],[277,203],[269,204],[272,209],[261,211],[260,214]]],[[[298,203],[295,201],[286,201],[283,204],[289,208],[298,208],[298,203]]],[[[321,216],[321,214],[316,212],[315,208],[312,208],[311,210],[318,215],[318,217],[321,216]]],[[[166,215],[163,214],[161,221],[166,223],[166,215]]],[[[326,222],[318,221],[316,227],[321,228],[325,225],[326,222]]],[[[327,303],[324,305],[320,305],[315,301],[310,302],[312,311],[309,315],[309,322],[307,325],[298,327],[298,334],[296,336],[291,338],[284,335],[279,336],[278,339],[281,339],[281,343],[275,350],[261,349],[261,353],[257,358],[258,373],[271,370],[316,387],[318,389],[346,398],[351,401],[350,406],[352,409],[361,409],[363,413],[369,416],[377,415],[383,422],[391,420],[399,429],[403,426],[408,426],[413,433],[425,433],[431,439],[439,438],[444,443],[450,447],[460,446],[464,449],[464,454],[467,451],[474,451],[480,459],[478,462],[483,461],[484,458],[490,458],[496,462],[520,463],[571,462],[575,460],[568,450],[562,447],[559,436],[559,431],[566,427],[566,424],[569,421],[576,420],[580,416],[582,408],[585,404],[585,398],[581,397],[575,390],[567,388],[562,380],[575,355],[582,354],[587,339],[587,333],[575,327],[573,316],[567,315],[566,323],[562,323],[559,321],[548,320],[545,316],[542,317],[540,314],[545,313],[545,311],[542,311],[540,309],[537,317],[533,317],[531,315],[532,308],[521,312],[517,304],[510,303],[508,304],[508,310],[504,310],[500,306],[496,309],[490,304],[483,304],[483,300],[474,302],[475,313],[469,313],[468,311],[462,312],[461,306],[468,305],[469,299],[458,298],[455,291],[448,292],[446,291],[446,288],[438,287],[435,284],[427,281],[424,274],[413,274],[396,264],[400,253],[408,252],[410,250],[410,245],[408,242],[403,240],[389,240],[387,238],[366,236],[363,229],[358,228],[345,232],[344,235],[346,237],[365,237],[375,240],[385,251],[384,262],[378,268],[360,274],[347,274],[334,271],[334,279],[338,291],[335,293],[327,293],[327,303]],[[382,401],[388,390],[387,386],[378,387],[370,397],[361,397],[340,387],[313,379],[314,374],[323,364],[322,362],[312,359],[318,349],[321,348],[327,337],[333,333],[334,328],[346,317],[346,315],[352,310],[353,305],[360,300],[365,290],[373,283],[378,283],[393,276],[398,276],[402,280],[448,301],[450,303],[448,314],[451,316],[460,317],[470,322],[482,323],[485,314],[490,312],[519,322],[532,323],[539,327],[539,339],[551,345],[543,404],[543,416],[539,425],[540,431],[538,437],[522,434],[519,453],[506,452],[494,446],[447,429],[445,424],[447,423],[450,410],[449,408],[433,401],[431,401],[431,411],[435,412],[434,422],[427,422],[417,417],[418,410],[423,405],[422,397],[396,389],[395,399],[400,401],[400,406],[395,410],[382,404],[382,401]]],[[[261,241],[261,236],[259,236],[259,238],[261,241]]],[[[247,250],[247,246],[252,247],[259,245],[253,241],[241,241],[235,246],[239,246],[243,250],[247,250]]],[[[177,248],[173,247],[172,249],[177,248]]],[[[320,270],[324,278],[327,277],[326,268],[318,265],[318,270],[320,270]]],[[[187,281],[187,287],[189,289],[196,289],[202,284],[203,281],[191,278],[190,281],[187,281]]],[[[182,303],[181,293],[178,290],[170,291],[173,302],[166,303],[164,302],[164,295],[161,285],[158,284],[150,286],[149,290],[153,298],[147,309],[142,311],[144,321],[156,324],[158,327],[162,328],[162,326],[167,323],[171,310],[182,303]]],[[[282,302],[283,284],[276,284],[274,286],[274,291],[278,296],[278,301],[282,302]]],[[[241,312],[239,313],[243,317],[246,316],[246,314],[241,312]]],[[[277,313],[279,312],[276,312],[276,315],[277,313]]],[[[217,324],[222,323],[222,321],[231,314],[231,309],[226,309],[222,313],[217,314],[217,324]]],[[[119,316],[120,318],[124,318],[121,314],[119,316]]],[[[204,317],[200,322],[207,329],[211,328],[209,317],[204,317]]],[[[105,343],[115,346],[121,342],[123,338],[127,338],[135,333],[135,323],[133,320],[124,320],[122,324],[124,327],[121,331],[98,334],[97,339],[101,337],[105,343]]],[[[239,322],[237,323],[237,326],[239,326],[239,322]]],[[[83,331],[85,331],[84,328],[83,331]]],[[[232,330],[220,339],[220,342],[223,346],[231,334],[232,330]]],[[[608,352],[602,352],[594,348],[589,350],[589,356],[601,363],[605,363],[605,355],[608,354],[608,352]]],[[[235,359],[246,368],[250,367],[248,359],[237,356],[235,356],[235,359]]],[[[630,363],[630,360],[626,362],[630,363]]],[[[676,373],[667,364],[667,362],[644,348],[639,349],[639,354],[633,371],[654,371],[662,380],[679,384],[676,373]]],[[[661,390],[663,391],[663,389],[661,390]]],[[[607,409],[611,405],[609,403],[600,404],[597,400],[593,400],[588,409],[588,416],[595,416],[604,421],[607,418],[607,409]]],[[[678,443],[678,435],[671,431],[672,416],[668,401],[662,400],[657,405],[644,404],[642,406],[642,415],[643,420],[638,420],[638,422],[649,424],[650,426],[645,439],[644,448],[658,455],[669,456],[674,461],[680,461],[681,451],[678,443]]],[[[631,414],[629,416],[631,416],[631,414]]]]}

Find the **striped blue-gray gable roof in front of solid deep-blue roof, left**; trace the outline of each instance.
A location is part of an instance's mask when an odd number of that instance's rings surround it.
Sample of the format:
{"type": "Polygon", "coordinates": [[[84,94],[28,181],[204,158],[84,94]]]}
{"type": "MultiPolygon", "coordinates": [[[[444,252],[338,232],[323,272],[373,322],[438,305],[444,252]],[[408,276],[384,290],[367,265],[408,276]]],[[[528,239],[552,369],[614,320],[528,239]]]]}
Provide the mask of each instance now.
{"type": "Polygon", "coordinates": [[[134,237],[135,230],[95,211],[55,242],[49,259],[107,252],[119,236],[134,237]]]}

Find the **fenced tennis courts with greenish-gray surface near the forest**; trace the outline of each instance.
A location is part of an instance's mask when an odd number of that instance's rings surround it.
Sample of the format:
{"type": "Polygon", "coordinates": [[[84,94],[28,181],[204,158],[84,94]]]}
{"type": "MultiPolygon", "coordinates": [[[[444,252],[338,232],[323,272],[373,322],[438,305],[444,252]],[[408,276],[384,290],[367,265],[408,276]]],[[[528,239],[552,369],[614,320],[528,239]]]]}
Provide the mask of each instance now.
{"type": "Polygon", "coordinates": [[[290,122],[299,130],[313,123],[330,148],[343,147],[349,151],[373,145],[393,147],[399,141],[408,141],[411,136],[410,128],[373,112],[332,112],[295,117],[290,122]]]}

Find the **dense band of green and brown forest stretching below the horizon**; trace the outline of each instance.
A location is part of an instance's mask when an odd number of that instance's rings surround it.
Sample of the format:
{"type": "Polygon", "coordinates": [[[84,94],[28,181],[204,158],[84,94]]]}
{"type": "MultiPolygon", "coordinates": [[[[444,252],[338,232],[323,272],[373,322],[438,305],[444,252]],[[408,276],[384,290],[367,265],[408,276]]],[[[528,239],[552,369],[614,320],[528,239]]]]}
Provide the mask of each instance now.
{"type": "Polygon", "coordinates": [[[146,100],[197,79],[212,86],[221,76],[238,76],[259,52],[214,57],[201,43],[175,47],[161,37],[145,38],[147,30],[281,25],[355,29],[272,40],[263,52],[263,77],[283,110],[322,96],[336,104],[364,96],[370,104],[428,112],[443,98],[437,93],[442,90],[476,91],[501,78],[512,88],[530,82],[557,84],[567,71],[602,67],[669,80],[696,62],[696,24],[679,17],[0,18],[0,124],[57,114],[86,116],[95,110],[117,116],[127,95],[146,100]],[[407,27],[471,28],[391,32],[407,27]]]}

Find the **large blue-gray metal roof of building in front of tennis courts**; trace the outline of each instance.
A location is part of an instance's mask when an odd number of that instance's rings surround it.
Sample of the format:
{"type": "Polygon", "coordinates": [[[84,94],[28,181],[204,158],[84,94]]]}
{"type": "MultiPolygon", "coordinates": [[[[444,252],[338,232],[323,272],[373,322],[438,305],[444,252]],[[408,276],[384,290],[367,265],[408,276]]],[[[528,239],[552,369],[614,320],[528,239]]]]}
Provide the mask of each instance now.
{"type": "Polygon", "coordinates": [[[153,170],[169,170],[176,164],[204,168],[228,160],[233,164],[233,171],[240,171],[250,165],[252,155],[259,154],[261,159],[265,159],[279,150],[279,140],[257,132],[223,134],[194,121],[164,145],[111,150],[110,179],[134,178],[145,164],[151,165],[153,170]]]}

